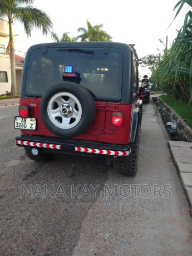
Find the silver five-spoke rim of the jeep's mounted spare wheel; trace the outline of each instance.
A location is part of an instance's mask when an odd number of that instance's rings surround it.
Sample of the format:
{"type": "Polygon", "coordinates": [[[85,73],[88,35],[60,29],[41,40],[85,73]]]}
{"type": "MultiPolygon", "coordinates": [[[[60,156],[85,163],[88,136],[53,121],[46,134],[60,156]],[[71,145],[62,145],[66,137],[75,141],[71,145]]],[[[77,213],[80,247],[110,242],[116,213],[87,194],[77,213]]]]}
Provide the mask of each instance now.
{"type": "Polygon", "coordinates": [[[82,107],[72,93],[58,92],[48,101],[47,114],[53,125],[71,129],[81,120],[82,107]]]}

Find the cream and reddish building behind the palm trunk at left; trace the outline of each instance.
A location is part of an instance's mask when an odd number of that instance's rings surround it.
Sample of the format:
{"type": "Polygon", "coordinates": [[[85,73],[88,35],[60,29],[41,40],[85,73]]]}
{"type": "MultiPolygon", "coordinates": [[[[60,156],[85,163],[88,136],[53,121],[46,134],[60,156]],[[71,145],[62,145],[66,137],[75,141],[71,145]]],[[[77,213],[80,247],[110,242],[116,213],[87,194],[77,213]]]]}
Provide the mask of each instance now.
{"type": "MultiPolygon", "coordinates": [[[[6,54],[8,43],[9,23],[0,19],[0,95],[11,91],[11,65],[9,54],[6,54]]],[[[23,62],[24,58],[16,55],[16,92],[18,94],[21,87],[23,62]]]]}

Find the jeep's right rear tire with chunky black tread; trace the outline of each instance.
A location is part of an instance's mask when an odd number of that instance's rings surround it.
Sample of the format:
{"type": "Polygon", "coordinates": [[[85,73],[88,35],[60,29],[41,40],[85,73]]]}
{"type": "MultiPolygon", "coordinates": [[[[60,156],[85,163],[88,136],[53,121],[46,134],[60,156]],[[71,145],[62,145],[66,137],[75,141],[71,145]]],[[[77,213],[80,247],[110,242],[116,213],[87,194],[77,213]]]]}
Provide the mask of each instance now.
{"type": "Polygon", "coordinates": [[[122,156],[117,158],[117,169],[121,174],[127,176],[135,176],[137,173],[137,161],[139,155],[141,124],[139,123],[137,129],[136,141],[132,142],[131,154],[129,156],[122,156]]]}

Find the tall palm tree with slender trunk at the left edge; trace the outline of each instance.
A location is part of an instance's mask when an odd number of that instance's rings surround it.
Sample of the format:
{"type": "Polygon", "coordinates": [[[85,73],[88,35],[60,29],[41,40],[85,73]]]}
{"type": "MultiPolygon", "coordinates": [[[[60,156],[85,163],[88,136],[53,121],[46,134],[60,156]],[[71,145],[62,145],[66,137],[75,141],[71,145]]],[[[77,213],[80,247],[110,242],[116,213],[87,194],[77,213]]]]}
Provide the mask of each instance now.
{"type": "Polygon", "coordinates": [[[14,40],[12,31],[13,20],[19,21],[24,25],[24,31],[27,36],[31,37],[32,29],[42,29],[43,35],[52,28],[50,17],[40,9],[30,6],[34,0],[1,0],[0,18],[7,17],[9,22],[9,45],[10,46],[10,63],[11,63],[11,95],[16,95],[16,70],[14,55],[14,40]]]}

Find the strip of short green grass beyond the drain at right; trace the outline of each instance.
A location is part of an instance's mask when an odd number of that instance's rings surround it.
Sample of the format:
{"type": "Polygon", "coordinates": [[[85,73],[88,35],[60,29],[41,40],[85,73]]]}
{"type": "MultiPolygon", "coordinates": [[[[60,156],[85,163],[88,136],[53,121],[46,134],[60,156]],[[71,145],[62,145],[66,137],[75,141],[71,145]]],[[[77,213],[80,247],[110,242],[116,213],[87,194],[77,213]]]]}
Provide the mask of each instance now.
{"type": "Polygon", "coordinates": [[[188,103],[170,98],[168,95],[161,95],[163,100],[168,106],[171,107],[182,119],[186,119],[186,124],[192,129],[192,106],[188,107],[188,103]]]}

